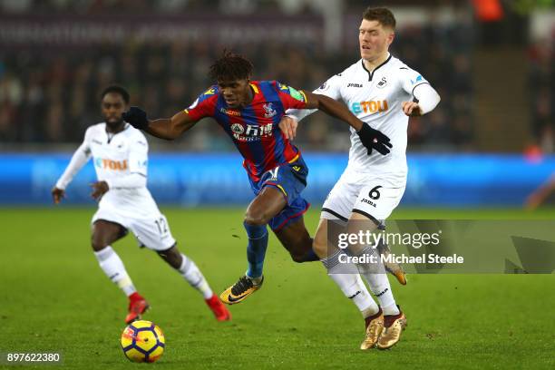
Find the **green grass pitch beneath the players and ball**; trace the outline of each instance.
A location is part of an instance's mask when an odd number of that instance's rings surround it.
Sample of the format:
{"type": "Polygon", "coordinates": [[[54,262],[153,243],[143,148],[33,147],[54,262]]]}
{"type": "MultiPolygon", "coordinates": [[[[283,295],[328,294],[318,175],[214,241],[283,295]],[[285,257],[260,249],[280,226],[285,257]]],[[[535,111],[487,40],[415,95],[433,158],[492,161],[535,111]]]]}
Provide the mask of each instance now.
{"type": "MultiPolygon", "coordinates": [[[[163,210],[215,291],[244,272],[242,209],[163,210]]],[[[119,346],[126,299],[89,247],[93,211],[0,209],[0,352],[61,351],[63,366],[54,368],[138,366],[119,346]]],[[[395,217],[555,219],[555,211],[417,209],[395,217]]],[[[312,211],[308,228],[316,221],[312,211]]],[[[216,322],[197,292],[131,237],[115,248],[151,301],[145,318],[167,337],[157,368],[555,368],[553,275],[418,275],[406,287],[392,281],[409,326],[392,350],[363,353],[356,308],[319,263],[294,264],[273,237],[264,287],[231,307],[229,323],[216,322]]]]}

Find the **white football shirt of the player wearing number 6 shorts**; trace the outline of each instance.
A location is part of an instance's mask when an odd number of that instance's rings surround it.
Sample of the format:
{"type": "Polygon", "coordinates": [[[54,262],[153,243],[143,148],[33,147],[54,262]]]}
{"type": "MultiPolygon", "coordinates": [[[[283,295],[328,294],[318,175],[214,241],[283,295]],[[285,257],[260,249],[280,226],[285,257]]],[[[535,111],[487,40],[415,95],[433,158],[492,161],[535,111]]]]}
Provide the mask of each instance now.
{"type": "MultiPolygon", "coordinates": [[[[387,155],[372,151],[368,156],[355,130],[351,128],[351,149],[346,171],[366,172],[392,181],[406,184],[406,141],[408,120],[401,107],[402,102],[413,100],[414,88],[428,83],[424,77],[389,54],[387,60],[370,73],[363,60],[352,64],[317,88],[314,93],[343,101],[349,110],[373,129],[382,131],[391,139],[393,149],[387,155]]],[[[312,111],[289,110],[297,120],[312,111]]]]}

